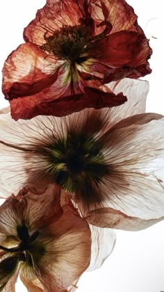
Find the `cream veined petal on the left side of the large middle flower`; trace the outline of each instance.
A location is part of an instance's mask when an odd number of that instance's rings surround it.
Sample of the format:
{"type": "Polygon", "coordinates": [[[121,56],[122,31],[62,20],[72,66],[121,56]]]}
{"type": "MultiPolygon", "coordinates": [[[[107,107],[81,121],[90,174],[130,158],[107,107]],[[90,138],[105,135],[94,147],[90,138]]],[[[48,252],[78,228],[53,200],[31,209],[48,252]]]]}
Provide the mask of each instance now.
{"type": "Polygon", "coordinates": [[[44,172],[40,175],[47,168],[47,161],[44,156],[33,153],[33,147],[51,143],[56,131],[58,136],[63,133],[63,124],[62,119],[55,117],[35,117],[26,122],[15,122],[10,114],[1,115],[1,197],[8,197],[11,192],[17,193],[23,184],[31,181],[38,181],[38,186],[42,185],[42,188],[52,182],[44,172]]]}

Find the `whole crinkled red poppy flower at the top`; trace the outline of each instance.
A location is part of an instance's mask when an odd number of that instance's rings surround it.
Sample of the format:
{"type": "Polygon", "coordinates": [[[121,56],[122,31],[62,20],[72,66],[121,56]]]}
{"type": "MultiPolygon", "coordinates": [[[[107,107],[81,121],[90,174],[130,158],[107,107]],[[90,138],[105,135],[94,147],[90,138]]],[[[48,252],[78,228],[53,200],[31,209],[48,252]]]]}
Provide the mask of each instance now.
{"type": "Polygon", "coordinates": [[[124,0],[47,0],[3,67],[15,120],[126,102],[106,83],[151,72],[151,48],[124,0]]]}

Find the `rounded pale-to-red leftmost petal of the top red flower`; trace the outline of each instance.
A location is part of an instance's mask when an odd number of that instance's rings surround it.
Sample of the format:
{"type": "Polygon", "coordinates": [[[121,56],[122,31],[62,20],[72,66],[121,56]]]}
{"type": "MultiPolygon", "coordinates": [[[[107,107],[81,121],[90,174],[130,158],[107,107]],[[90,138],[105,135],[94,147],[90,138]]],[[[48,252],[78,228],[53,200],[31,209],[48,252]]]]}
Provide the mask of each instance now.
{"type": "Polygon", "coordinates": [[[34,95],[51,86],[60,63],[32,43],[21,44],[8,56],[3,67],[3,92],[12,99],[34,95]],[[12,70],[11,70],[12,68],[12,70]]]}

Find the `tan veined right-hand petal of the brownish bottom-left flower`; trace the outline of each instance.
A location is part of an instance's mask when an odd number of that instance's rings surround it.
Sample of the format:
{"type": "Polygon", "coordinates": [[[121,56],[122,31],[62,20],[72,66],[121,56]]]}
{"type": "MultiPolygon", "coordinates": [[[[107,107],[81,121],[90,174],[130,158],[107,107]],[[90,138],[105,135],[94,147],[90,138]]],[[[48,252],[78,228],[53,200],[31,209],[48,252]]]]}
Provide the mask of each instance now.
{"type": "Polygon", "coordinates": [[[46,245],[36,276],[47,291],[65,291],[90,264],[90,228],[73,206],[63,206],[63,216],[49,227],[54,243],[46,245]]]}

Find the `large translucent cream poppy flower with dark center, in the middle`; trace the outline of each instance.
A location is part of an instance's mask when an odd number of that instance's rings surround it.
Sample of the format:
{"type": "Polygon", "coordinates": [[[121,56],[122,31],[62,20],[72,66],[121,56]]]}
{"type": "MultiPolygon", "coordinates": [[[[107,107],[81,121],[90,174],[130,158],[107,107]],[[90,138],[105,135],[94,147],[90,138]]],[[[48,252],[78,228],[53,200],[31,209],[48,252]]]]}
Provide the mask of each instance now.
{"type": "Polygon", "coordinates": [[[119,108],[26,122],[1,114],[1,187],[56,182],[99,227],[136,230],[161,220],[163,116],[144,113],[146,81],[123,79],[113,86],[128,97],[119,108]]]}

